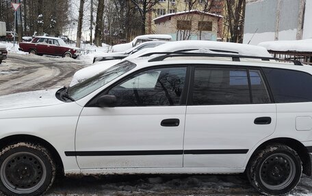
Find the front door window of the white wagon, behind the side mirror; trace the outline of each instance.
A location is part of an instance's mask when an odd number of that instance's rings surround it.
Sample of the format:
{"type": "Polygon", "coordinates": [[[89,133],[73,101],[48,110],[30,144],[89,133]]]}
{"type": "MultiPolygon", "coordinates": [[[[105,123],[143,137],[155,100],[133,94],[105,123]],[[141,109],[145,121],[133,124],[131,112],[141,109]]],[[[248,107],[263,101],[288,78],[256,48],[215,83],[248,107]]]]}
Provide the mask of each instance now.
{"type": "Polygon", "coordinates": [[[186,67],[155,68],[131,76],[109,90],[116,107],[179,105],[186,67]]]}

